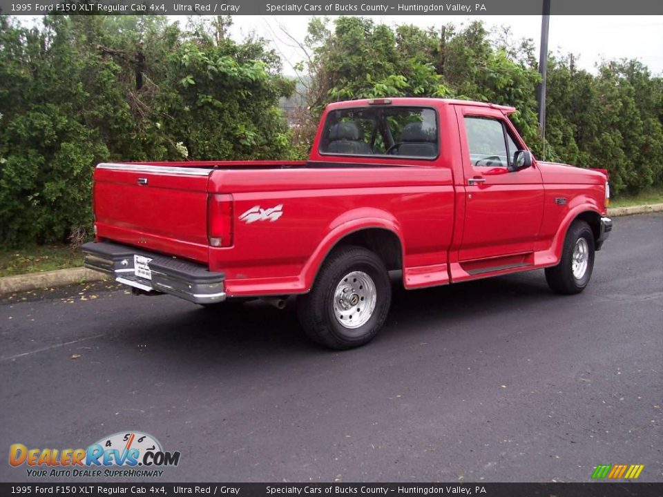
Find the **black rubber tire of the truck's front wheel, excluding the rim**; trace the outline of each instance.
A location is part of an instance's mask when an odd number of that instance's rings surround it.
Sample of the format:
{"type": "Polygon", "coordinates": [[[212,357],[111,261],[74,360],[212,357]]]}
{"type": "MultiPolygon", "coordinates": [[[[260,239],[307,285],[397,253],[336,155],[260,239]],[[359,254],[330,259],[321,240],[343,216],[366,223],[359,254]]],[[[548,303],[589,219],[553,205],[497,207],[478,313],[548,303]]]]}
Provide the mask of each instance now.
{"type": "MultiPolygon", "coordinates": [[[[580,242],[581,244],[583,242],[580,242]]],[[[584,221],[575,221],[568,228],[561,260],[554,267],[546,268],[546,282],[555,293],[573,295],[582,292],[589,283],[594,269],[594,233],[584,221]],[[588,249],[587,266],[582,277],[573,274],[573,251],[579,240],[584,239],[588,249]]]]}

